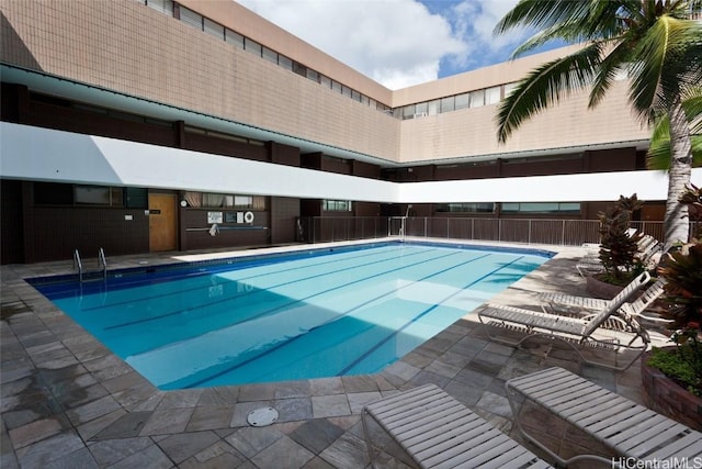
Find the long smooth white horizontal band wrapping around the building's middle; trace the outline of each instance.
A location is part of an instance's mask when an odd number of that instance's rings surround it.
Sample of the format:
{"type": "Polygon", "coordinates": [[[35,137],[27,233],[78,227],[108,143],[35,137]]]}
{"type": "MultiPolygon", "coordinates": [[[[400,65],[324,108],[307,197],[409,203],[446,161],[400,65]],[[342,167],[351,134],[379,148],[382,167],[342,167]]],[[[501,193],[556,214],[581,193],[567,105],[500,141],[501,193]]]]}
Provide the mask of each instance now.
{"type": "MultiPolygon", "coordinates": [[[[0,123],[0,176],[386,203],[666,200],[663,171],[389,182],[115,138],[0,123]]],[[[692,171],[702,186],[702,168],[692,171]]]]}

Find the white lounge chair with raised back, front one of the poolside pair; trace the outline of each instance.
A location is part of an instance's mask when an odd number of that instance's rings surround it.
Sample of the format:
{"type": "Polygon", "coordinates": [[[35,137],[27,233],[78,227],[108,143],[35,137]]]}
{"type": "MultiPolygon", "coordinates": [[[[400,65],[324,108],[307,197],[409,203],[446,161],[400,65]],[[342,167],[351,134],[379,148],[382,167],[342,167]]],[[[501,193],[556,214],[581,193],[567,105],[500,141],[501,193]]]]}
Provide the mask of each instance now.
{"type": "Polygon", "coordinates": [[[638,289],[643,288],[650,280],[650,275],[644,272],[636,277],[634,281],[627,284],[616,297],[614,297],[607,308],[601,309],[597,313],[584,317],[568,317],[559,314],[544,313],[541,311],[524,310],[521,308],[506,306],[501,304],[488,304],[478,310],[478,320],[484,326],[486,334],[496,342],[501,342],[511,346],[519,347],[524,340],[534,336],[544,336],[551,339],[561,340],[570,346],[580,358],[581,361],[601,366],[604,368],[622,371],[629,368],[641,355],[646,351],[650,342],[648,333],[638,322],[631,315],[618,314],[618,310],[624,302],[631,298],[638,289]],[[603,334],[607,332],[603,324],[612,316],[620,317],[625,323],[629,331],[626,334],[619,333],[629,340],[624,344],[620,342],[620,336],[613,334],[603,334]],[[521,328],[525,335],[519,340],[509,340],[507,338],[490,333],[491,326],[521,328]],[[598,335],[596,336],[596,332],[598,335]],[[599,360],[588,359],[580,353],[582,346],[593,346],[602,348],[611,348],[614,354],[614,365],[604,364],[599,360]],[[619,366],[619,351],[625,349],[634,351],[634,357],[624,365],[619,366]]]}

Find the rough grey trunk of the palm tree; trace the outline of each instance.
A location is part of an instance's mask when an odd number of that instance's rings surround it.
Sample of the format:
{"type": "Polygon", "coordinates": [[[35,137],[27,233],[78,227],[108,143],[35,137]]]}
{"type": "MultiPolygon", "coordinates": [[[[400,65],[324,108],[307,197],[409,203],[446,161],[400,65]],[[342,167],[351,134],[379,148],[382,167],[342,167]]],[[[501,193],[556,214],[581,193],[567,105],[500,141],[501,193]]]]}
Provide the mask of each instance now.
{"type": "Polygon", "coordinates": [[[678,198],[692,178],[692,143],[690,126],[682,109],[680,96],[668,110],[670,115],[670,169],[668,172],[668,199],[666,200],[665,250],[676,243],[687,243],[690,235],[688,206],[678,198]]]}

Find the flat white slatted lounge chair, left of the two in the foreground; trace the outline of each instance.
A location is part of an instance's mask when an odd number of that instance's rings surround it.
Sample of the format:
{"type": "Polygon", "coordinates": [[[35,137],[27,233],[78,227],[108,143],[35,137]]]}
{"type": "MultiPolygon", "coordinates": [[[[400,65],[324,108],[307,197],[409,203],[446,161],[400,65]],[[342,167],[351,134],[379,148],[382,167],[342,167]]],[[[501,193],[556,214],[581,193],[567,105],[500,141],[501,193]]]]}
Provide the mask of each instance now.
{"type": "Polygon", "coordinates": [[[363,407],[365,443],[375,467],[367,417],[422,468],[551,467],[435,384],[393,394],[363,407]]]}

